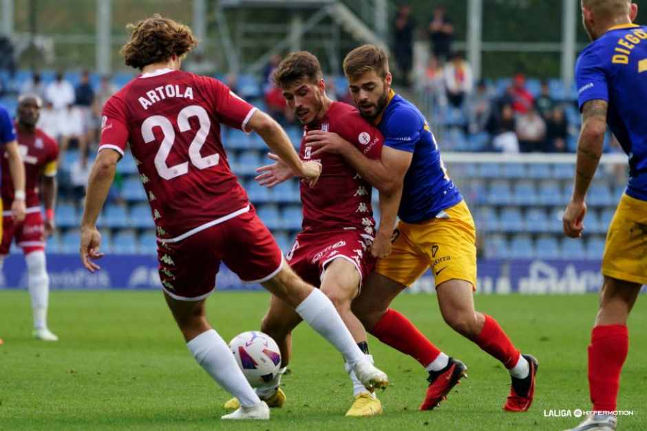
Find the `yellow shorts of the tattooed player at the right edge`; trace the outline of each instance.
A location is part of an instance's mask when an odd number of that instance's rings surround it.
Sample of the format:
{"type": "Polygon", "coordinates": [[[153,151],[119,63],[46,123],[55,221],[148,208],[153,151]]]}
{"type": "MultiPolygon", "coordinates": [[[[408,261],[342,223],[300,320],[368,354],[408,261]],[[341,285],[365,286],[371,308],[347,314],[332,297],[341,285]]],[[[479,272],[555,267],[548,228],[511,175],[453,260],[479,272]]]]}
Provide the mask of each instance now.
{"type": "Polygon", "coordinates": [[[622,195],[606,232],[602,274],[647,285],[647,201],[622,195]]]}

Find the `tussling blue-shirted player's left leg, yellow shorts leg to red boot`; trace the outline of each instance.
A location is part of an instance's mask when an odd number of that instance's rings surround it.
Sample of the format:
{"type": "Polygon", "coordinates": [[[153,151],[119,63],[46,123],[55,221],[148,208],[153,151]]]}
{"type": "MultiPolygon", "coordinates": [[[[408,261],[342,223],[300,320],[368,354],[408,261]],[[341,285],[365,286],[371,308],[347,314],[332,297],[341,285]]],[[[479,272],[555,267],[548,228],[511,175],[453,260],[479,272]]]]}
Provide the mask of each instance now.
{"type": "Polygon", "coordinates": [[[379,259],[376,272],[367,277],[352,307],[367,331],[425,367],[429,385],[420,408],[430,410],[465,377],[467,367],[440,351],[409,319],[389,308],[392,300],[429,267],[425,256],[412,245],[409,231],[407,225],[399,223],[392,253],[379,259]]]}

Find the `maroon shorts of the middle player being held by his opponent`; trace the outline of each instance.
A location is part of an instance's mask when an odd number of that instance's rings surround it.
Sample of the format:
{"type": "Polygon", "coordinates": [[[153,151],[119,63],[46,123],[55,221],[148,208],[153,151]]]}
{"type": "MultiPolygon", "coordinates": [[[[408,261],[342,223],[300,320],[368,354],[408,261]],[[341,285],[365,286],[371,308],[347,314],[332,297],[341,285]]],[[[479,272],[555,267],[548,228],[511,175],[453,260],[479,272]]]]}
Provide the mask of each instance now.
{"type": "Polygon", "coordinates": [[[361,286],[361,281],[375,266],[370,253],[372,241],[372,236],[361,230],[301,232],[286,254],[286,261],[307,283],[319,287],[326,265],[333,259],[343,258],[357,268],[361,286]]]}

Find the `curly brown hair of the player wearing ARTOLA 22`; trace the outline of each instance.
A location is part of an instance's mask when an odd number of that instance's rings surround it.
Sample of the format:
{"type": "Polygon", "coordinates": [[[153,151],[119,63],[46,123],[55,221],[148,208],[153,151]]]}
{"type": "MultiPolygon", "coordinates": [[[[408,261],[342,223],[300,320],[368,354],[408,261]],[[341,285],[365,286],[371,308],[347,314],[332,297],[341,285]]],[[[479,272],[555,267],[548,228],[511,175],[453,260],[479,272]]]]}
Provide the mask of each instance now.
{"type": "Polygon", "coordinates": [[[126,26],[129,41],[121,48],[127,66],[143,69],[147,65],[169,60],[173,54],[186,55],[198,45],[191,28],[172,19],[154,14],[151,18],[126,26]]]}

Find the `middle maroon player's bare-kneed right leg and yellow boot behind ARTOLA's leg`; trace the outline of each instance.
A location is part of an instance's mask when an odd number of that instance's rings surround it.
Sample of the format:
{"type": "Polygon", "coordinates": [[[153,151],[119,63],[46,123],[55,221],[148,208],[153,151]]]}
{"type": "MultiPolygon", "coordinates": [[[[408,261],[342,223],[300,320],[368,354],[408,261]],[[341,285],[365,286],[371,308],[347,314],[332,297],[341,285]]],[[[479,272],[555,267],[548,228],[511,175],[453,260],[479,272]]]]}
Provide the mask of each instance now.
{"type": "MultiPolygon", "coordinates": [[[[352,240],[346,241],[352,247],[352,240]]],[[[342,250],[341,248],[337,249],[342,250]]],[[[361,249],[359,249],[361,250],[361,249]]],[[[357,256],[359,260],[359,256],[357,256]]],[[[361,262],[361,261],[360,261],[361,262]]],[[[352,300],[359,294],[361,285],[361,269],[349,258],[335,257],[332,261],[324,263],[324,273],[321,278],[321,291],[330,298],[335,309],[339,312],[341,320],[350,331],[357,346],[364,353],[366,359],[372,364],[373,357],[368,351],[368,340],[366,331],[361,322],[352,313],[352,300]]],[[[352,365],[346,362],[346,373],[350,376],[353,385],[354,402],[346,416],[372,417],[382,414],[382,404],[374,393],[368,392],[361,381],[355,375],[352,365]]]]}

